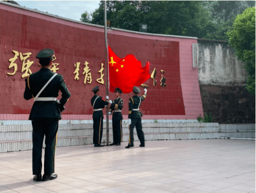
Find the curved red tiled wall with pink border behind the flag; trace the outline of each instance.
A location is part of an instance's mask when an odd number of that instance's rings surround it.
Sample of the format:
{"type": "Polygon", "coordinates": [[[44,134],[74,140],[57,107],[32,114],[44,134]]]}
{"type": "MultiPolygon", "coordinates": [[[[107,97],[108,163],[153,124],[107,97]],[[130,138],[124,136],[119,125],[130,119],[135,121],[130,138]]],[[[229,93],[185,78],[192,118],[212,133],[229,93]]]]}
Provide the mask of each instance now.
{"type": "MultiPolygon", "coordinates": [[[[100,78],[98,71],[101,63],[104,64],[102,73],[105,74],[104,38],[102,27],[0,3],[0,120],[27,119],[33,101],[23,99],[25,78],[22,75],[25,71],[21,73],[22,63],[33,61],[29,69],[31,72],[38,71],[40,67],[35,55],[44,48],[55,51],[53,63],[59,64],[56,72],[63,75],[71,92],[63,119],[91,119],[91,89],[99,85],[100,95],[105,98],[106,93],[105,84],[96,81],[100,78]],[[14,67],[8,68],[9,60],[15,55],[12,50],[18,53],[17,59],[13,59],[17,72],[8,75],[14,70],[14,67]],[[29,52],[31,55],[24,59],[29,52]],[[85,80],[85,73],[83,75],[85,61],[89,63],[91,83],[89,78],[85,80]],[[79,80],[74,79],[74,64],[77,62],[80,62],[79,80]]],[[[149,86],[147,98],[140,108],[144,119],[196,119],[203,115],[198,73],[192,68],[192,43],[197,43],[196,39],[112,30],[108,31],[108,42],[118,57],[133,54],[143,66],[147,61],[151,63],[150,74],[154,68],[157,70],[156,86],[153,86],[152,78],[144,83],[149,86]],[[166,87],[160,86],[162,75],[166,78],[166,87]]],[[[103,79],[105,82],[105,76],[103,79]]],[[[113,93],[109,96],[114,99],[113,93]]],[[[128,115],[128,99],[131,96],[132,93],[121,95],[124,99],[124,118],[128,115]]]]}

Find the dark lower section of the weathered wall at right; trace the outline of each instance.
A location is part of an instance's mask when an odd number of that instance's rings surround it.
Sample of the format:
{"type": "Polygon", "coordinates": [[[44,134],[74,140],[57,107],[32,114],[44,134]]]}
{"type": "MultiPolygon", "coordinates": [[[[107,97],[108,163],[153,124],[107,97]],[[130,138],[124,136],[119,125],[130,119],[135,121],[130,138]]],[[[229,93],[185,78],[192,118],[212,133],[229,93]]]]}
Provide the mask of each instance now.
{"type": "Polygon", "coordinates": [[[217,123],[255,123],[255,96],[243,86],[212,86],[199,82],[204,113],[217,123]]]}

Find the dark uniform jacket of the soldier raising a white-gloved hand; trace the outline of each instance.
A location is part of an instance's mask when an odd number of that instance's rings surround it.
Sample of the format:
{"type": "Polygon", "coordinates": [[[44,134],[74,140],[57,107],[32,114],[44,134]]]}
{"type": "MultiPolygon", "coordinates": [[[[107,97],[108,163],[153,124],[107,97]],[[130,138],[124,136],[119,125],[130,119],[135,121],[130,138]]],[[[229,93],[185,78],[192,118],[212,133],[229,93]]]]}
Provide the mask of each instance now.
{"type": "Polygon", "coordinates": [[[133,97],[129,98],[129,112],[128,118],[141,118],[143,115],[140,111],[133,111],[133,109],[138,109],[141,105],[141,102],[146,98],[146,94],[144,93],[143,96],[134,95],[133,97]]]}

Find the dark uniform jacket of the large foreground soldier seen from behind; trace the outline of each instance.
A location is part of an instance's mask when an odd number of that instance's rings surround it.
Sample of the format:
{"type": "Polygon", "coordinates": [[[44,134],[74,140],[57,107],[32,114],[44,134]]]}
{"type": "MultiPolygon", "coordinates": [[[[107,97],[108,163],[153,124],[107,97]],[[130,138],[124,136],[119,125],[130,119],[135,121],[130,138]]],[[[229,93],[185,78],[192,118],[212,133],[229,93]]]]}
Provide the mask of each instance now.
{"type": "MultiPolygon", "coordinates": [[[[38,72],[30,74],[25,79],[26,87],[23,96],[24,99],[29,100],[34,98],[53,74],[55,73],[53,73],[49,68],[41,68],[38,72]]],[[[61,99],[59,100],[60,104],[56,101],[35,101],[29,114],[29,120],[34,118],[61,119],[59,108],[65,105],[71,95],[61,74],[57,74],[51,80],[39,97],[57,97],[59,95],[59,91],[62,92],[61,99]]]]}

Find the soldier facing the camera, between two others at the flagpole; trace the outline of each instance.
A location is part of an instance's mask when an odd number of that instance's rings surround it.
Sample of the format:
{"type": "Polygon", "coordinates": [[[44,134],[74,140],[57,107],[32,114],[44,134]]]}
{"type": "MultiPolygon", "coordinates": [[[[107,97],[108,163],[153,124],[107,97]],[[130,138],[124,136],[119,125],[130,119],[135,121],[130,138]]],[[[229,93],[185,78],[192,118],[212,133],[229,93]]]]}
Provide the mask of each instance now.
{"type": "Polygon", "coordinates": [[[113,101],[109,108],[108,114],[110,115],[112,111],[114,111],[112,115],[112,128],[113,128],[113,143],[109,144],[110,146],[116,145],[120,146],[122,142],[122,120],[123,116],[121,110],[123,108],[124,101],[120,98],[122,94],[122,90],[118,87],[115,88],[115,96],[116,99],[113,101]]]}

